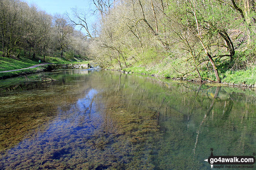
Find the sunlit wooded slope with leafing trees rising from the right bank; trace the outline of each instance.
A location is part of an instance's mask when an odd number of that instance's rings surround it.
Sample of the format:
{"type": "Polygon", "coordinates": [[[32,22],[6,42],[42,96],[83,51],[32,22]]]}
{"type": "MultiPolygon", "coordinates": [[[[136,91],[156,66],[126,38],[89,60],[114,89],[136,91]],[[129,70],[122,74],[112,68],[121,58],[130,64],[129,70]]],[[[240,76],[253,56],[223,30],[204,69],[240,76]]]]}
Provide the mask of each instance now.
{"type": "Polygon", "coordinates": [[[95,2],[100,19],[91,51],[102,68],[256,83],[255,0],[95,2]]]}

